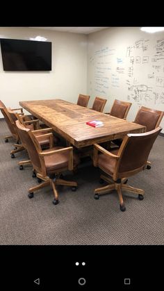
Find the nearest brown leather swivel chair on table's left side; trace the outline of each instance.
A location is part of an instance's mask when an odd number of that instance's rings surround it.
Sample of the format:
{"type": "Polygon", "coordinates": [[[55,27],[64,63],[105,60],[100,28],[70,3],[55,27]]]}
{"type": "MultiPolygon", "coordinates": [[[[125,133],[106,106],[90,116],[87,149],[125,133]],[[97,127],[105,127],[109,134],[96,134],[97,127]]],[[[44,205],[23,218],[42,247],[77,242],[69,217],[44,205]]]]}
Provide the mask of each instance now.
{"type": "Polygon", "coordinates": [[[79,158],[76,155],[73,156],[72,147],[54,147],[52,128],[51,132],[42,135],[44,138],[49,138],[50,145],[49,149],[42,151],[38,139],[35,137],[35,131],[24,128],[18,120],[16,121],[16,125],[24,147],[26,147],[28,156],[31,159],[33,171],[38,178],[44,181],[40,185],[34,186],[28,190],[28,198],[33,198],[33,192],[36,190],[51,185],[55,197],[53,203],[55,205],[58,204],[58,190],[56,189],[56,185],[66,185],[72,187],[72,190],[76,190],[76,182],[65,181],[60,178],[60,175],[67,169],[72,171],[74,166],[79,163],[79,158]]]}

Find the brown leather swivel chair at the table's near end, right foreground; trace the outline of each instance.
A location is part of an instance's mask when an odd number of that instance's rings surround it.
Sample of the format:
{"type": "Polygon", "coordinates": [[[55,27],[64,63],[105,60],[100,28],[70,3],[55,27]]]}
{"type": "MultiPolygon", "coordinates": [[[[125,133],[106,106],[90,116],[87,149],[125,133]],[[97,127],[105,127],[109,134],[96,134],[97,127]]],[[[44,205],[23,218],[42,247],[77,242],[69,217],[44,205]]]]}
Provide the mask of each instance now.
{"type": "Polygon", "coordinates": [[[108,185],[95,189],[95,199],[99,199],[99,194],[117,190],[121,211],[126,210],[122,190],[138,193],[138,199],[143,199],[144,190],[125,185],[124,181],[127,177],[145,169],[149,152],[161,129],[158,127],[147,133],[128,134],[124,137],[120,149],[114,149],[113,151],[106,151],[99,144],[94,145],[93,163],[95,167],[99,167],[108,175],[101,175],[101,179],[108,182],[108,185]],[[100,154],[98,154],[99,151],[100,154]]]}

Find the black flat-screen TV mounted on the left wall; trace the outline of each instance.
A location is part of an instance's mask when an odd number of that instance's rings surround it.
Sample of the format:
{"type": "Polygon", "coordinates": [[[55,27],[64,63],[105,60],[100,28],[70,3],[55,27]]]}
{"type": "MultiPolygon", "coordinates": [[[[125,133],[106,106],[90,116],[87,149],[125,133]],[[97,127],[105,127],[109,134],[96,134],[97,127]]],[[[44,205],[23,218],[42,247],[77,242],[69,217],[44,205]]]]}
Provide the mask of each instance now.
{"type": "Polygon", "coordinates": [[[51,42],[1,38],[4,71],[51,71],[51,42]]]}

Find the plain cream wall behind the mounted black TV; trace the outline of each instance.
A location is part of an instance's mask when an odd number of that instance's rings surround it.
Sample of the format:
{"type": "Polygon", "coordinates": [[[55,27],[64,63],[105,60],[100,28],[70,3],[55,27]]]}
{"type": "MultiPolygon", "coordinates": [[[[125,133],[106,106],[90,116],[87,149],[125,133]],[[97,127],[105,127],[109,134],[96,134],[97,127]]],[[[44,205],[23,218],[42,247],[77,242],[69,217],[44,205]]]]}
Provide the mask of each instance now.
{"type": "Polygon", "coordinates": [[[50,72],[4,72],[0,53],[0,99],[7,107],[17,108],[23,100],[53,98],[76,103],[79,93],[87,94],[86,35],[0,27],[0,38],[29,40],[38,35],[52,42],[50,72]]]}

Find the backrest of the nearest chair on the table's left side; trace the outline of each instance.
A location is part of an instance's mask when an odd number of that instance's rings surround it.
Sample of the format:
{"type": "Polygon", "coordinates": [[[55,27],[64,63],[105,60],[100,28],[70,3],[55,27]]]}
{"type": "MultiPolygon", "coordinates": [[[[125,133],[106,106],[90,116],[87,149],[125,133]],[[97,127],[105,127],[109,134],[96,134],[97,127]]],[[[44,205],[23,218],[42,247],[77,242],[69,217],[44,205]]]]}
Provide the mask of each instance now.
{"type": "Polygon", "coordinates": [[[30,129],[25,128],[24,125],[20,124],[19,120],[16,120],[15,124],[17,126],[17,131],[19,133],[22,144],[28,151],[28,156],[31,159],[33,169],[41,173],[42,168],[40,164],[39,154],[35,147],[35,142],[33,142],[33,133],[31,133],[30,129]]]}

